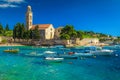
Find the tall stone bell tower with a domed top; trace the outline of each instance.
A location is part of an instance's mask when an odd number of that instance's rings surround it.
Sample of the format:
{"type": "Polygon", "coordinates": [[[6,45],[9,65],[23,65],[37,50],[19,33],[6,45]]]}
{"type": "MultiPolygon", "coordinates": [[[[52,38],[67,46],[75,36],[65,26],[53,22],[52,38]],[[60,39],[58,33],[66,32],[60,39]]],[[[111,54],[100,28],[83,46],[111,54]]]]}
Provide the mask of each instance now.
{"type": "Polygon", "coordinates": [[[27,12],[26,12],[26,27],[27,27],[27,30],[30,30],[32,28],[32,20],[33,20],[32,9],[31,9],[31,6],[28,6],[27,7],[27,12]]]}

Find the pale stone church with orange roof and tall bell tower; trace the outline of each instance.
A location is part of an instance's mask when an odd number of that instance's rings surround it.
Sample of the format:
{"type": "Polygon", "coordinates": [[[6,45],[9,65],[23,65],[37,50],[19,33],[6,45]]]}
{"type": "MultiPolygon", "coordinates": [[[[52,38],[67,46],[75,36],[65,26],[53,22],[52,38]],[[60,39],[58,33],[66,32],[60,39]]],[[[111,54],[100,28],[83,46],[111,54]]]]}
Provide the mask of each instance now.
{"type": "Polygon", "coordinates": [[[33,13],[31,6],[27,7],[26,12],[26,27],[27,30],[33,30],[35,27],[38,26],[38,29],[40,31],[41,39],[43,40],[50,40],[54,39],[54,33],[55,29],[52,24],[34,24],[33,25],[33,13]]]}

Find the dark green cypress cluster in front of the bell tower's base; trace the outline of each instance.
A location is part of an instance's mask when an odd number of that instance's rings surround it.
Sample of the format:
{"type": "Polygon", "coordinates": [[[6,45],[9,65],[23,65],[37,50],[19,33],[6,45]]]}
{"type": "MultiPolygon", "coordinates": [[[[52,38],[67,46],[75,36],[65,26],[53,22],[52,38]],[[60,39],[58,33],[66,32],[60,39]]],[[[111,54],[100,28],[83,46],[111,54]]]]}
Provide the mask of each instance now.
{"type": "Polygon", "coordinates": [[[34,30],[26,30],[24,24],[17,23],[13,29],[13,38],[17,39],[40,39],[38,26],[34,30]]]}

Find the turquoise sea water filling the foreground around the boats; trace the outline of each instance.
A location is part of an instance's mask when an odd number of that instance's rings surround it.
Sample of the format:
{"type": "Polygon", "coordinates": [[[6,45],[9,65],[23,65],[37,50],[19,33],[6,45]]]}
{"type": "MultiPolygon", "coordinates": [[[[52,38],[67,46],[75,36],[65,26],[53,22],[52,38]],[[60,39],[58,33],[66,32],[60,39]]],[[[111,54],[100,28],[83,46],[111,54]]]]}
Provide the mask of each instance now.
{"type": "MultiPolygon", "coordinates": [[[[97,56],[96,58],[65,59],[62,63],[48,63],[40,57],[23,54],[37,51],[42,54],[51,50],[60,54],[78,49],[19,48],[18,54],[4,53],[8,47],[0,47],[0,80],[120,80],[120,57],[97,56]]],[[[116,51],[119,54],[119,50],[116,51]]]]}

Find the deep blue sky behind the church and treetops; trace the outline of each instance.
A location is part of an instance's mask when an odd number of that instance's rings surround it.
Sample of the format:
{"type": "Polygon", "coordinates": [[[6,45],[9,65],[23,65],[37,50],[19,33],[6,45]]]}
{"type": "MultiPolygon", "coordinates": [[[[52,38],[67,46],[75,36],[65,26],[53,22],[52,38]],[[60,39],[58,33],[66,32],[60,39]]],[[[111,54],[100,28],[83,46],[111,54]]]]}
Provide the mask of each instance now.
{"type": "Polygon", "coordinates": [[[73,25],[76,30],[120,36],[120,0],[0,0],[0,23],[25,24],[27,6],[33,24],[73,25]]]}

